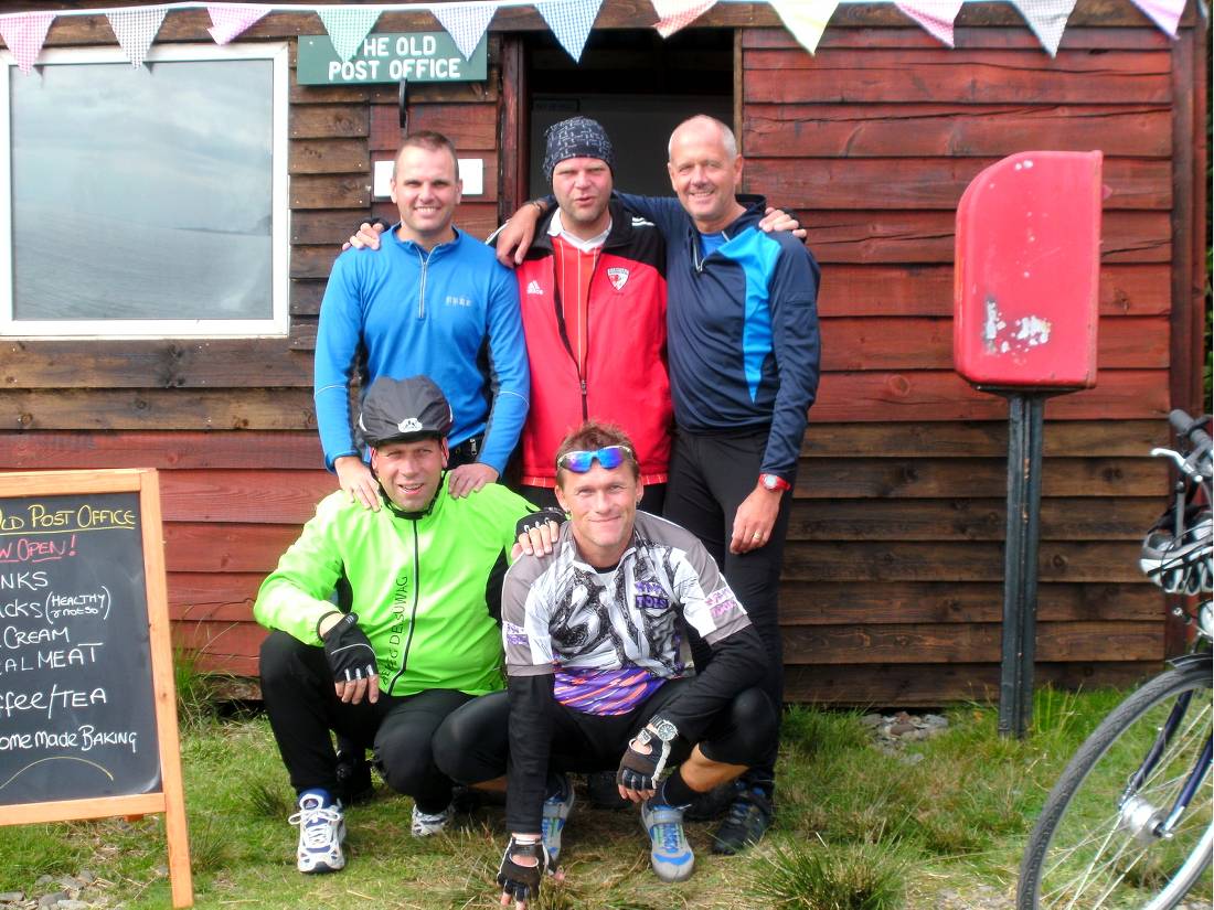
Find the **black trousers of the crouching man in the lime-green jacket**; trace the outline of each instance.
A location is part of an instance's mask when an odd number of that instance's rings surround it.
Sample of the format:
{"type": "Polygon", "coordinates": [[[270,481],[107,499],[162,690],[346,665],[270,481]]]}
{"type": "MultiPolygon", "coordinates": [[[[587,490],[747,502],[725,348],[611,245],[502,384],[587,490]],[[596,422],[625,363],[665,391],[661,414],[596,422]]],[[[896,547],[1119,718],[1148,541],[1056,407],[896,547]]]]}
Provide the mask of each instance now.
{"type": "Polygon", "coordinates": [[[438,770],[431,740],[438,726],[473,696],[449,689],[416,695],[380,693],[374,705],[342,703],[333,690],[324,649],[273,631],[261,645],[261,695],[278,751],[296,792],[337,787],[330,730],[359,749],[375,750],[390,787],[412,796],[425,813],[452,798],[452,780],[438,770]]]}

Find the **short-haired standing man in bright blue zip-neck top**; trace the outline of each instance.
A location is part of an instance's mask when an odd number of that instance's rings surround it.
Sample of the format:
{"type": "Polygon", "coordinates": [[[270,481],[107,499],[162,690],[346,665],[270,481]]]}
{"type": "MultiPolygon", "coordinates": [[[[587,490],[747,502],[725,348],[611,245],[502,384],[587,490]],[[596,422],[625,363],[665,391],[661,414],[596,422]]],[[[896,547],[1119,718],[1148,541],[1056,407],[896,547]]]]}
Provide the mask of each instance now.
{"type": "Polygon", "coordinates": [[[350,421],[359,365],[364,389],[380,376],[419,374],[442,388],[455,414],[449,437],[455,497],[505,470],[531,385],[515,277],[452,223],[460,181],[450,140],[437,132],[405,138],[391,186],[401,221],[385,235],[385,254],[347,250],[337,257],[316,343],[325,466],[352,500],[371,510],[379,508],[378,485],[350,421]]]}

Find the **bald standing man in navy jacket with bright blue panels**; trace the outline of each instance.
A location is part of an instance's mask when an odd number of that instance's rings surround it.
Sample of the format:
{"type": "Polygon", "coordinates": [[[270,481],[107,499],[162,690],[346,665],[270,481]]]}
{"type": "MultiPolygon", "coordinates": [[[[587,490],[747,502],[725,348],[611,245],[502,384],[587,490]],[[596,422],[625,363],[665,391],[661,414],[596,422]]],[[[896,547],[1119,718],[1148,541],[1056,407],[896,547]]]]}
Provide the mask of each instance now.
{"type": "MultiPolygon", "coordinates": [[[[733,132],[693,116],[670,137],[677,200],[619,194],[666,240],[666,334],[676,436],[663,514],[694,533],[747,604],[767,649],[764,690],[783,700],[778,587],[807,411],[818,386],[818,266],[789,233],[759,229],[764,199],[736,197],[733,132]],[[749,203],[747,205],[743,201],[749,203]]],[[[498,239],[509,257],[545,200],[498,239]]],[[[697,664],[708,649],[694,642],[697,664]]],[[[714,851],[734,853],[771,824],[776,743],[738,785],[714,851]]]]}

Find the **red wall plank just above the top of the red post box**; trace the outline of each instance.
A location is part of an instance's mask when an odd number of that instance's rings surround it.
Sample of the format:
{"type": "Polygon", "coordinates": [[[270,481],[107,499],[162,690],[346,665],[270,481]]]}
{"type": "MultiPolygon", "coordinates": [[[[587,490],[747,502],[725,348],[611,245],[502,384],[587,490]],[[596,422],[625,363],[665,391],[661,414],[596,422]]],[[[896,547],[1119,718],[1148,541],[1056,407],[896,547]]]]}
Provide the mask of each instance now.
{"type": "Polygon", "coordinates": [[[1168,158],[1172,113],[1151,104],[745,104],[751,158],[1003,158],[1029,148],[1168,158]]]}

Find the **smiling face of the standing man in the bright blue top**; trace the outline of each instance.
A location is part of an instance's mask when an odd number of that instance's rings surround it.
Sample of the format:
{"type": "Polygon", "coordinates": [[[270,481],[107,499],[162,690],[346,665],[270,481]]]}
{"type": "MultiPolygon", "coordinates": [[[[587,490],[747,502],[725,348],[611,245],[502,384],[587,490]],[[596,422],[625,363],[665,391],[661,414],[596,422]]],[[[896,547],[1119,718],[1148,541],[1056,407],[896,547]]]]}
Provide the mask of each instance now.
{"type": "Polygon", "coordinates": [[[446,148],[405,146],[392,172],[392,201],[401,212],[402,240],[426,249],[450,240],[460,201],[455,159],[446,148]]]}

